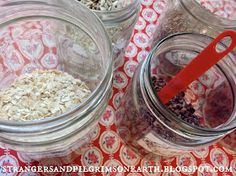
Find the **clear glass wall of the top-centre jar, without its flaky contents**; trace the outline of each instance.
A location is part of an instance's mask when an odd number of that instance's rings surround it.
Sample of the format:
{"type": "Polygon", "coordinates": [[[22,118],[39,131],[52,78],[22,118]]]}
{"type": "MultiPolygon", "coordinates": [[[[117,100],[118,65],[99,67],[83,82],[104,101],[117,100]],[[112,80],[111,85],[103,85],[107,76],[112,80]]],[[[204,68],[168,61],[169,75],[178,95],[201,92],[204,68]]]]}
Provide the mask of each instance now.
{"type": "Polygon", "coordinates": [[[122,65],[122,59],[138,20],[140,9],[140,0],[132,0],[122,9],[112,11],[93,10],[102,20],[112,41],[115,70],[122,65]]]}

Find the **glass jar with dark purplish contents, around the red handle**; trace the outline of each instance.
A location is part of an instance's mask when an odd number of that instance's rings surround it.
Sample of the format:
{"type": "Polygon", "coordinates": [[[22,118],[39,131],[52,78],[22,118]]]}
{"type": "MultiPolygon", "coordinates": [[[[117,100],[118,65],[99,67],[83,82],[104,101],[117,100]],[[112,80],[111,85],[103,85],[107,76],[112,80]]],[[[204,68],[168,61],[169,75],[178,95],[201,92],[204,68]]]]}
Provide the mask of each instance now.
{"type": "MultiPolygon", "coordinates": [[[[167,105],[157,95],[158,88],[211,40],[190,33],[169,36],[138,66],[116,112],[118,133],[137,153],[180,155],[215,143],[236,128],[236,75],[227,63],[236,59],[234,53],[225,56],[167,105]]],[[[225,49],[222,43],[217,47],[225,49]]]]}

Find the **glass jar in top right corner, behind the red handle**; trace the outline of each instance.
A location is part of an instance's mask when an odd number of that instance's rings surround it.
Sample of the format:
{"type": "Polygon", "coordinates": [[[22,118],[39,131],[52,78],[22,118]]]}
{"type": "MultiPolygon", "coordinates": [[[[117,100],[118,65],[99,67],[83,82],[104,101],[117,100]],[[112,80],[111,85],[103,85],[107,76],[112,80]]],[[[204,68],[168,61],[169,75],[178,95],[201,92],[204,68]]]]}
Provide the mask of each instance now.
{"type": "MultiPolygon", "coordinates": [[[[213,3],[213,1],[208,1],[213,3]]],[[[205,3],[209,3],[208,1],[205,1],[205,3]]],[[[217,7],[219,6],[218,3],[224,3],[224,1],[215,1],[212,6],[217,7]]],[[[211,12],[211,6],[201,5],[201,2],[204,1],[168,0],[165,10],[158,19],[152,46],[155,46],[164,37],[177,32],[195,32],[214,38],[224,30],[236,29],[235,16],[222,17],[214,11],[211,12]]],[[[236,5],[236,3],[234,2],[232,5],[236,5]]]]}

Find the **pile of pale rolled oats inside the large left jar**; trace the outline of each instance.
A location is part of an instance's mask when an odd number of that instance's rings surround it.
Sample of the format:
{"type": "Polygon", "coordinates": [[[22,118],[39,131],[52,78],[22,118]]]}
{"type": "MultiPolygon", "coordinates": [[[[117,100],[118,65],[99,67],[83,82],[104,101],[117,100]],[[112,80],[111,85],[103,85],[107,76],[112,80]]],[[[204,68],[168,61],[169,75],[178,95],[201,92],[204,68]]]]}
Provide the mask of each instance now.
{"type": "Polygon", "coordinates": [[[0,118],[26,121],[57,116],[90,94],[84,82],[65,72],[36,70],[0,91],[0,118]]]}

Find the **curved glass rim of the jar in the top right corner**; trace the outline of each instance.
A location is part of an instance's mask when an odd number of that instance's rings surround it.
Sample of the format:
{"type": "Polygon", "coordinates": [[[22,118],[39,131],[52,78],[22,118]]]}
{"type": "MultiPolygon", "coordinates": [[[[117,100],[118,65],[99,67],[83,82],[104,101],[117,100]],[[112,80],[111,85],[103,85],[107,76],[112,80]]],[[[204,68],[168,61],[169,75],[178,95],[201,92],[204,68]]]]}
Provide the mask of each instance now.
{"type": "Polygon", "coordinates": [[[181,6],[186,11],[188,11],[194,18],[197,18],[199,21],[205,23],[208,26],[213,26],[222,29],[236,28],[236,20],[223,18],[219,15],[212,13],[210,10],[206,9],[201,4],[199,4],[197,0],[179,0],[179,2],[181,6]],[[196,7],[196,9],[191,7],[196,7]]]}

